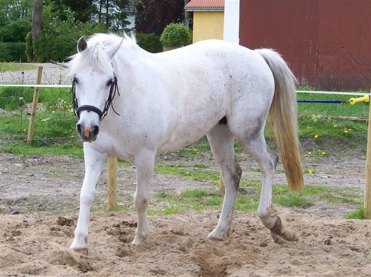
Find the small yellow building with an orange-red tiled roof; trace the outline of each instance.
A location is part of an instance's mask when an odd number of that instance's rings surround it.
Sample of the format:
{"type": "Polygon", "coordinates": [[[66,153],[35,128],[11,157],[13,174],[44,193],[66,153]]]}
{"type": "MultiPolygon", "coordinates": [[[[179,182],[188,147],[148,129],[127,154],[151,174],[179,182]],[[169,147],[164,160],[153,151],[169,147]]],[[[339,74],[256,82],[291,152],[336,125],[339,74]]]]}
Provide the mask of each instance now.
{"type": "Polygon", "coordinates": [[[223,39],[224,0],[191,0],[185,9],[193,12],[193,43],[223,39]]]}

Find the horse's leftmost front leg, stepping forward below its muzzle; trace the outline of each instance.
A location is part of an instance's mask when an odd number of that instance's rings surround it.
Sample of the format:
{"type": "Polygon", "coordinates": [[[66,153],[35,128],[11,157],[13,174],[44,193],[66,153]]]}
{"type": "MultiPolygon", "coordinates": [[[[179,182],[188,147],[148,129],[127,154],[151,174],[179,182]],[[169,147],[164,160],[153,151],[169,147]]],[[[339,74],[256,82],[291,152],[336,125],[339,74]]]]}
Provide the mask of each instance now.
{"type": "Polygon", "coordinates": [[[70,249],[88,254],[89,214],[95,195],[95,186],[102,171],[104,155],[94,150],[90,143],[84,142],[85,177],[80,192],[80,212],[75,229],[75,237],[70,249]]]}

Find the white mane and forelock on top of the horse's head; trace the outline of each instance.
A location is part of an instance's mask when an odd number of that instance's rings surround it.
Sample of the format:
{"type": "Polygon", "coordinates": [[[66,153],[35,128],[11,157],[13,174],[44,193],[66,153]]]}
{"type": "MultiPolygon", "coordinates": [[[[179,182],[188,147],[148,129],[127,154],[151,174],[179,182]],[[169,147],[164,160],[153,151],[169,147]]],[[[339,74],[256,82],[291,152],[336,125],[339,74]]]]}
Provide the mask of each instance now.
{"type": "Polygon", "coordinates": [[[139,47],[133,34],[128,36],[124,33],[122,37],[115,34],[94,34],[88,39],[87,49],[69,57],[70,61],[67,64],[69,74],[72,76],[88,66],[92,66],[100,72],[112,71],[112,60],[106,51],[119,44],[122,39],[120,48],[134,49],[139,47]]]}

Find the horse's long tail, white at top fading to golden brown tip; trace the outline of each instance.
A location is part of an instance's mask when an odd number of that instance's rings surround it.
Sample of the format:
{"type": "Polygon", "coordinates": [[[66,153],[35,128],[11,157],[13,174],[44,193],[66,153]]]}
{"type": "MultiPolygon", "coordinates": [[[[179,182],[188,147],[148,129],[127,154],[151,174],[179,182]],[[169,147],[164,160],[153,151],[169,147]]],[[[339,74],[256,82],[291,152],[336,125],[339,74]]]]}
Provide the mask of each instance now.
{"type": "Polygon", "coordinates": [[[274,77],[275,91],[268,123],[276,136],[288,189],[301,191],[304,187],[304,178],[300,162],[296,78],[279,53],[271,49],[256,51],[266,60],[274,77]]]}

